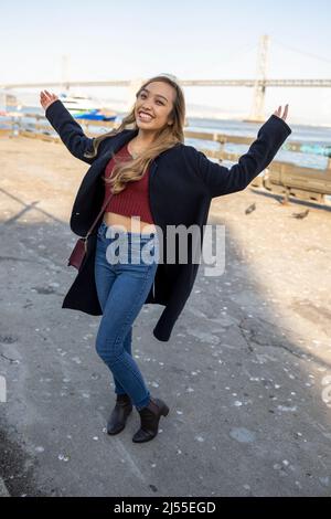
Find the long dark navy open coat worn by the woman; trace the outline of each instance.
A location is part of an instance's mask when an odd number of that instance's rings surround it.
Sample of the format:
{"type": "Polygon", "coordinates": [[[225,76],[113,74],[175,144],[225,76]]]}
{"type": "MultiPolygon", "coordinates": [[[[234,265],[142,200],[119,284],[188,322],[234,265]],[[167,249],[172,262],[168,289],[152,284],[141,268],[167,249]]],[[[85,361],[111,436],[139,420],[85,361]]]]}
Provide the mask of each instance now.
{"type": "MultiPolygon", "coordinates": [[[[93,138],[84,135],[82,127],[60,99],[49,106],[45,116],[73,156],[90,165],[76,194],[70,222],[75,234],[85,236],[104,201],[105,187],[100,177],[105,167],[111,153],[116,153],[131,140],[138,129],[126,129],[104,139],[97,156],[90,159],[84,153],[92,150],[93,138]]],[[[257,139],[250,145],[247,153],[231,168],[209,160],[194,147],[183,144],[160,153],[150,165],[149,201],[153,222],[162,230],[163,257],[167,258],[167,225],[199,225],[202,250],[204,225],[212,199],[245,189],[271,162],[290,134],[291,129],[287,123],[271,115],[260,127],[257,139]]],[[[94,316],[103,314],[94,277],[96,231],[102,220],[103,215],[88,239],[86,257],[63,300],[62,308],[72,308],[94,316]]],[[[193,288],[197,267],[196,261],[189,261],[186,264],[159,263],[153,285],[145,301],[166,307],[153,328],[157,339],[169,340],[193,288]]]]}

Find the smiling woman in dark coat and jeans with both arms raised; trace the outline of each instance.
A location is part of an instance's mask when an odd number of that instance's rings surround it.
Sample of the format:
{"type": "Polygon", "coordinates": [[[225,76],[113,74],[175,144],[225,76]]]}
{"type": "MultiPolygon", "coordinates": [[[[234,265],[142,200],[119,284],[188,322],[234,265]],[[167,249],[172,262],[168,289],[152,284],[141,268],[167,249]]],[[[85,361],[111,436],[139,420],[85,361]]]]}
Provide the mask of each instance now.
{"type": "MultiPolygon", "coordinates": [[[[159,262],[160,250],[166,257],[169,248],[167,227],[195,224],[202,230],[212,198],[245,189],[271,162],[291,129],[285,123],[288,105],[284,112],[279,106],[247,153],[227,169],[184,145],[184,94],[174,76],[151,77],[136,98],[117,130],[95,138],[84,135],[56,95],[43,91],[40,100],[68,150],[90,165],[76,195],[71,229],[85,235],[113,193],[63,308],[103,315],[96,349],[113,373],[117,394],[107,432],[122,431],[134,404],[140,428],[132,441],[142,443],[158,434],[169,407],[150,394],[132,357],[132,325],[143,304],[164,305],[153,335],[168,341],[197,271],[190,261],[159,262]]],[[[202,244],[203,232],[200,248],[202,244]]],[[[188,248],[192,252],[191,244],[188,248]]]]}

